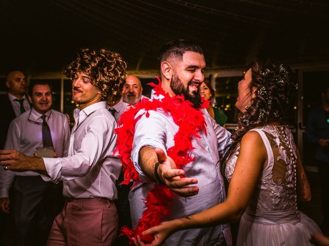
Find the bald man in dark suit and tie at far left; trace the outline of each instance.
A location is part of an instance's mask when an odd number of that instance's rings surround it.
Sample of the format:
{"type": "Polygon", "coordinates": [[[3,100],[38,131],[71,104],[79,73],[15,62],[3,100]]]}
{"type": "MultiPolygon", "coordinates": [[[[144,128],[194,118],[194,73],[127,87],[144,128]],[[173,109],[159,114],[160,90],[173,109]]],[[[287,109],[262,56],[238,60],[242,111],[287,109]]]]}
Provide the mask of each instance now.
{"type": "Polygon", "coordinates": [[[10,122],[21,113],[30,109],[29,102],[25,98],[26,79],[21,71],[11,71],[6,76],[8,94],[0,96],[0,105],[3,114],[0,119],[0,150],[5,146],[7,131],[10,122]]]}

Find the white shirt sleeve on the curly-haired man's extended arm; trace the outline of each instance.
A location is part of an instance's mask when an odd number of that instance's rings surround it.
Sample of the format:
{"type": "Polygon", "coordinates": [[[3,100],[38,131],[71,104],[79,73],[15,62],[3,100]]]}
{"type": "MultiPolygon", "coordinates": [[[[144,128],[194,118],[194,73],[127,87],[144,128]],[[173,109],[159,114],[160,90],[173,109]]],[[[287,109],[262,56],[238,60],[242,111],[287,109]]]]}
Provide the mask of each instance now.
{"type": "MultiPolygon", "coordinates": [[[[109,142],[115,139],[113,136],[113,130],[116,127],[115,121],[111,122],[101,115],[90,120],[88,124],[81,147],[75,150],[75,153],[63,158],[43,158],[49,175],[41,175],[45,181],[72,180],[83,177],[95,167],[97,162],[106,157],[108,153],[105,152],[108,151],[109,142]]],[[[70,147],[71,151],[73,148],[70,147]]]]}

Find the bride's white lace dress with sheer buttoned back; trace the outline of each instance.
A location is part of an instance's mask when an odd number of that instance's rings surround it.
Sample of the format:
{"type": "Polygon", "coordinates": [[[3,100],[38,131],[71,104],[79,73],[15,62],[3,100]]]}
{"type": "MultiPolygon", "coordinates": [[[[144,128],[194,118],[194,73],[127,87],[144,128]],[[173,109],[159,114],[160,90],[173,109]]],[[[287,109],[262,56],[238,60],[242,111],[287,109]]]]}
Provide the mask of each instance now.
{"type": "MultiPolygon", "coordinates": [[[[310,236],[321,231],[297,208],[297,151],[293,135],[287,126],[265,126],[251,131],[262,137],[268,163],[241,218],[237,245],[312,245],[310,236]]],[[[227,162],[228,181],[239,151],[240,146],[227,162]]]]}

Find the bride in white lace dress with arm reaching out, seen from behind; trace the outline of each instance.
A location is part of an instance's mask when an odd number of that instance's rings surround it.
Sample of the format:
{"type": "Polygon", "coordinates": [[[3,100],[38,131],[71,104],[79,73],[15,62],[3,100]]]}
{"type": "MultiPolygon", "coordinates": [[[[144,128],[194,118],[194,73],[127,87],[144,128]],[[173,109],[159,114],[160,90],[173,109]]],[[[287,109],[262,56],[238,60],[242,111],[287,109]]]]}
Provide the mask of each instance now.
{"type": "Polygon", "coordinates": [[[321,231],[297,208],[297,201],[310,200],[310,187],[293,135],[283,124],[295,87],[282,64],[255,61],[238,85],[239,127],[226,154],[226,201],[199,214],[162,222],[143,233],[154,235],[151,243],[138,237],[135,244],[160,245],[178,230],[241,219],[237,245],[312,245],[310,237],[321,231]]]}

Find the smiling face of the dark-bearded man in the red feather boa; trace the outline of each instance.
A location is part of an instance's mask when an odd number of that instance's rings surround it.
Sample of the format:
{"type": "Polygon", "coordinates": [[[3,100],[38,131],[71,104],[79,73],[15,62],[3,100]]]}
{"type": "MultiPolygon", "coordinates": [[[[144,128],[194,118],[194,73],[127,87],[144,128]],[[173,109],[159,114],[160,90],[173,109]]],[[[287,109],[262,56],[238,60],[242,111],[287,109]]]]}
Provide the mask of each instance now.
{"type": "Polygon", "coordinates": [[[170,62],[173,75],[170,88],[176,95],[184,95],[194,106],[200,104],[199,88],[204,81],[206,62],[203,54],[187,51],[182,59],[170,62]]]}

